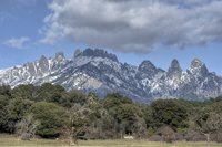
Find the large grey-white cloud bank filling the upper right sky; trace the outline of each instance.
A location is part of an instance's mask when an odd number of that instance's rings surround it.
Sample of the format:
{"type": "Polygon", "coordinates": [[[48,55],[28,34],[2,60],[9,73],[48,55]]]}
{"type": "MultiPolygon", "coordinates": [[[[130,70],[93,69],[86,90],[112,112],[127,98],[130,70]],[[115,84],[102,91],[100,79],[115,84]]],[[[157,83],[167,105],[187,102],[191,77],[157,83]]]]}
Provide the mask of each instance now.
{"type": "Polygon", "coordinates": [[[44,43],[65,38],[143,53],[222,41],[220,0],[53,0],[44,43]]]}

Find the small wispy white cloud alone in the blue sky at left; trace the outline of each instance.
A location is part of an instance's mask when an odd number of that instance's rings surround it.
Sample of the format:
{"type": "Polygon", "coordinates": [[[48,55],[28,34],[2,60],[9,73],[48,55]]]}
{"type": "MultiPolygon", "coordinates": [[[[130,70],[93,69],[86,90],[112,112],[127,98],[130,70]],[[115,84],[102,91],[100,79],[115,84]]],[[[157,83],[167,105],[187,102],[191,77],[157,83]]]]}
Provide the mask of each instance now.
{"type": "Polygon", "coordinates": [[[30,41],[29,38],[27,36],[22,36],[22,38],[12,38],[10,40],[7,40],[3,42],[4,45],[8,45],[10,48],[16,48],[16,49],[23,49],[24,48],[24,44],[30,41]]]}

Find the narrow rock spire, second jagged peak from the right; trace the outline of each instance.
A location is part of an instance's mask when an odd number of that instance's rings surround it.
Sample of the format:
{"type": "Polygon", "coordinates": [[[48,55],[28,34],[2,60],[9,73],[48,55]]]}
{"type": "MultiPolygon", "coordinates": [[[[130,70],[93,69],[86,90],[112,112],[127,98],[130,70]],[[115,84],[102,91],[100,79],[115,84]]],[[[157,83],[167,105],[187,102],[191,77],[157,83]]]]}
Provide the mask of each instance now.
{"type": "Polygon", "coordinates": [[[171,62],[171,66],[168,70],[168,76],[170,76],[170,77],[173,75],[181,76],[181,74],[182,74],[182,69],[180,66],[180,63],[178,62],[176,59],[174,59],[171,62]]]}

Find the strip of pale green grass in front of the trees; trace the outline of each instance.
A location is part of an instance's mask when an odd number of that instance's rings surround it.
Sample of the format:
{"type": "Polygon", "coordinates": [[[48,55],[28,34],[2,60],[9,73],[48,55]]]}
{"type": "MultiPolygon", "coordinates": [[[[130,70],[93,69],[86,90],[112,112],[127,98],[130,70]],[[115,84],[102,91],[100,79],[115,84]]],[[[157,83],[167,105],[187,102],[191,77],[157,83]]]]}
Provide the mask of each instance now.
{"type": "MultiPolygon", "coordinates": [[[[78,147],[206,147],[206,143],[151,143],[147,140],[87,140],[79,141],[78,147]]],[[[0,136],[0,147],[69,147],[62,140],[32,139],[19,140],[13,136],[0,136]]],[[[222,147],[222,144],[210,143],[208,147],[222,147]]]]}

